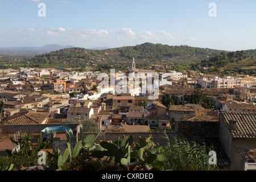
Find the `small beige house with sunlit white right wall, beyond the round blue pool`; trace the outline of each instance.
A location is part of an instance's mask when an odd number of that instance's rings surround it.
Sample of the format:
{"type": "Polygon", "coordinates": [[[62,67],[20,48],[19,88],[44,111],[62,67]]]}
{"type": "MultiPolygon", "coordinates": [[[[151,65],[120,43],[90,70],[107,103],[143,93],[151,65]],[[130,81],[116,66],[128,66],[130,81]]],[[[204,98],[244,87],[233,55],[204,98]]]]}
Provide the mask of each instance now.
{"type": "Polygon", "coordinates": [[[67,111],[68,119],[90,119],[93,115],[93,108],[88,107],[69,107],[67,111]]]}

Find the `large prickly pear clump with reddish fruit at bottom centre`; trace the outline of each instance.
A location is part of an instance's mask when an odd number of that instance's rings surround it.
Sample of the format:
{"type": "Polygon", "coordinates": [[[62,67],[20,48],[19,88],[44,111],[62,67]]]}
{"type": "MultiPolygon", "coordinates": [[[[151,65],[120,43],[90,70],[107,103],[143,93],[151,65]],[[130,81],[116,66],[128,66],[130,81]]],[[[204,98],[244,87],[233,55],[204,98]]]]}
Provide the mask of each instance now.
{"type": "Polygon", "coordinates": [[[165,159],[163,155],[155,154],[155,143],[152,142],[152,135],[148,138],[139,137],[139,143],[133,142],[132,135],[123,135],[122,139],[115,142],[101,141],[100,150],[94,150],[91,154],[94,158],[103,158],[104,156],[114,156],[115,163],[120,163],[123,170],[142,165],[144,169],[160,170],[165,159]],[[133,144],[133,148],[131,148],[133,144]]]}

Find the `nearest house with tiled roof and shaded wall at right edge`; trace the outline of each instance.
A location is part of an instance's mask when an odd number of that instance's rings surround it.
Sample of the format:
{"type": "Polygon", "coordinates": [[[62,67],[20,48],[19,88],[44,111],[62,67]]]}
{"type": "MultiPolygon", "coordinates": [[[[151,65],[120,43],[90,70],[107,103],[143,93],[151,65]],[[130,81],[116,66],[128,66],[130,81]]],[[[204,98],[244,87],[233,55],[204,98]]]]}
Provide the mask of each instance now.
{"type": "Polygon", "coordinates": [[[220,113],[220,142],[230,160],[230,171],[241,168],[242,155],[246,149],[256,148],[255,113],[220,113]]]}

